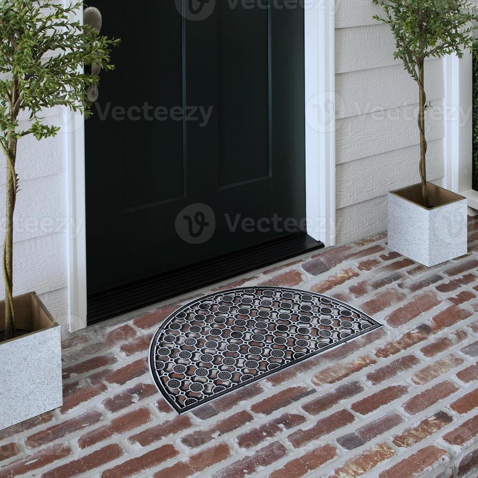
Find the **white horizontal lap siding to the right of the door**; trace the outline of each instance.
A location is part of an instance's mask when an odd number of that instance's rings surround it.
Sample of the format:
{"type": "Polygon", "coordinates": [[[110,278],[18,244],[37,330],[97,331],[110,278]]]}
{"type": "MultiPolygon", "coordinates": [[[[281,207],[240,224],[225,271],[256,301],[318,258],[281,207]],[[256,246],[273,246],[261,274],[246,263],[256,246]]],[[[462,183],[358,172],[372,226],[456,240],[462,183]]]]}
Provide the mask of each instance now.
{"type": "MultiPolygon", "coordinates": [[[[419,181],[418,87],[399,60],[372,0],[339,0],[336,12],[337,242],[387,228],[388,191],[419,181]]],[[[441,183],[443,63],[427,60],[429,180],[441,183]]]]}

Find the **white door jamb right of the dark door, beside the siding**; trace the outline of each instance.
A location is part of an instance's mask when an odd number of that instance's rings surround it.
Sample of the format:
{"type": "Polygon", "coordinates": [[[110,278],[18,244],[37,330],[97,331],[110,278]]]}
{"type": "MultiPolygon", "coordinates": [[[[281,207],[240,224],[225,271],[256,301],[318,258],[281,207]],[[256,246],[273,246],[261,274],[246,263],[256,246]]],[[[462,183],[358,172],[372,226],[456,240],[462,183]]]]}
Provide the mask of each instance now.
{"type": "Polygon", "coordinates": [[[335,244],[335,0],[305,1],[306,207],[310,236],[335,244]]]}

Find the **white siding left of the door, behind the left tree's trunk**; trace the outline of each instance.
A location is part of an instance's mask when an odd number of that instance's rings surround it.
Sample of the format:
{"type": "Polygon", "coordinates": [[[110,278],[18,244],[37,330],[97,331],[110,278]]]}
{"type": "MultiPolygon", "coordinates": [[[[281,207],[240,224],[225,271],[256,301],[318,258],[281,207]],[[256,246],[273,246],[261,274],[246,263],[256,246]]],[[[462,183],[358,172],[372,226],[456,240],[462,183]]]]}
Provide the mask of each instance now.
{"type": "MultiPolygon", "coordinates": [[[[62,126],[62,109],[44,114],[50,124],[62,126]]],[[[36,291],[60,323],[68,327],[67,213],[65,127],[56,138],[20,139],[14,231],[14,293],[36,291]]],[[[0,154],[1,241],[5,231],[5,158],[0,154]]],[[[3,277],[0,299],[4,299],[3,277]]]]}

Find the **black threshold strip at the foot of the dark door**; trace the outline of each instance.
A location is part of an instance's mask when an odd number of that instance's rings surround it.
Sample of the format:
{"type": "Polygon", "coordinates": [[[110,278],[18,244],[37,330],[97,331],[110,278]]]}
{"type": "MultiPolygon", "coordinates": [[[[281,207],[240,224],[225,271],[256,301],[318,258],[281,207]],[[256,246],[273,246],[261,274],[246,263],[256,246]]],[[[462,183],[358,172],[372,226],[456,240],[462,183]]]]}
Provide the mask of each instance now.
{"type": "Polygon", "coordinates": [[[87,296],[87,325],[245,274],[324,245],[300,232],[87,296]]]}

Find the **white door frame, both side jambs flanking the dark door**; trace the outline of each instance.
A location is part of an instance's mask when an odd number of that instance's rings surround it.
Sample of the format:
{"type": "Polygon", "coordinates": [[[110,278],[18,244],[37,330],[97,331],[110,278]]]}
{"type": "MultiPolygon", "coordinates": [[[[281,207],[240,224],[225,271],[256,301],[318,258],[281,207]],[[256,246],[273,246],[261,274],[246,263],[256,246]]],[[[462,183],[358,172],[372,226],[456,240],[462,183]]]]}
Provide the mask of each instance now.
{"type": "MultiPolygon", "coordinates": [[[[305,1],[306,214],[309,234],[335,244],[335,0],[305,1]]],[[[82,12],[75,20],[82,21],[82,12]]],[[[65,113],[70,332],[86,327],[84,119],[65,113]]]]}

